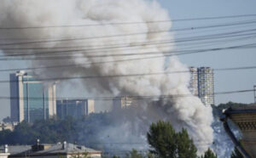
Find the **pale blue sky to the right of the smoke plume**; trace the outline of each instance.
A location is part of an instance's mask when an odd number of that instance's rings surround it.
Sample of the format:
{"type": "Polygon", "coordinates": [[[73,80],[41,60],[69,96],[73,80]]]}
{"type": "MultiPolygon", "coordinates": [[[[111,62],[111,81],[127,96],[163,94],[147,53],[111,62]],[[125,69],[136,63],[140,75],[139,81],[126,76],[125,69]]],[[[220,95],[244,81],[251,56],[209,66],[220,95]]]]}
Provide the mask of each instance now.
{"type": "MultiPolygon", "coordinates": [[[[168,9],[172,19],[256,14],[256,1],[254,0],[160,0],[159,2],[164,8],[168,9]]],[[[197,25],[197,22],[200,22],[200,25],[207,25],[209,21],[204,21],[205,24],[202,21],[195,21],[192,25],[197,25]]],[[[181,22],[173,22],[173,27],[181,27],[180,25],[183,24],[181,22]]],[[[183,25],[183,27],[186,27],[186,25],[183,25]]],[[[253,25],[250,28],[255,27],[253,25]]],[[[256,40],[253,39],[248,42],[256,42],[256,40]]],[[[225,43],[222,43],[221,47],[224,46],[225,43]]],[[[256,48],[223,50],[207,54],[191,54],[180,56],[179,58],[186,65],[210,66],[212,68],[256,65],[256,48]]],[[[256,85],[256,70],[215,72],[214,79],[215,92],[253,89],[253,85],[256,85]]],[[[228,101],[252,103],[253,92],[218,95],[215,97],[216,104],[228,101]]]]}

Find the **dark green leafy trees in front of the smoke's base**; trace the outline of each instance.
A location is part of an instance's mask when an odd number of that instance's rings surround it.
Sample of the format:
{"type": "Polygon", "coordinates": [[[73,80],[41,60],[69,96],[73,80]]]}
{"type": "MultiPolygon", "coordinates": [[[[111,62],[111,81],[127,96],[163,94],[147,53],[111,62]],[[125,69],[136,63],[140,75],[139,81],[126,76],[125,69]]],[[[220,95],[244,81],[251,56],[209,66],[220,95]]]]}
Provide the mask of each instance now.
{"type": "Polygon", "coordinates": [[[170,122],[152,123],[147,133],[150,152],[162,158],[196,158],[196,147],[186,129],[176,133],[170,122]]]}

